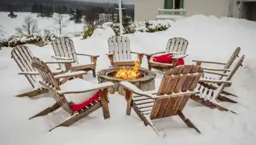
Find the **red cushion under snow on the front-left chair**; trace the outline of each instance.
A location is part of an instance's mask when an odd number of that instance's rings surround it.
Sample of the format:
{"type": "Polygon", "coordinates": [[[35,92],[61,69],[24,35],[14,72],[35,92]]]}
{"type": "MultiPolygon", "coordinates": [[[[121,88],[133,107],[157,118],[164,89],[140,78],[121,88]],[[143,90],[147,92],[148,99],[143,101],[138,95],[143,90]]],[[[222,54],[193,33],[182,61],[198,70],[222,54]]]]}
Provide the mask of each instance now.
{"type": "Polygon", "coordinates": [[[86,101],[83,101],[80,104],[73,104],[73,106],[71,106],[71,110],[72,111],[77,111],[80,110],[82,108],[84,108],[85,106],[88,106],[89,104],[91,104],[93,101],[98,100],[100,97],[100,90],[98,92],[96,92],[95,94],[93,94],[90,99],[87,99],[86,101]]]}

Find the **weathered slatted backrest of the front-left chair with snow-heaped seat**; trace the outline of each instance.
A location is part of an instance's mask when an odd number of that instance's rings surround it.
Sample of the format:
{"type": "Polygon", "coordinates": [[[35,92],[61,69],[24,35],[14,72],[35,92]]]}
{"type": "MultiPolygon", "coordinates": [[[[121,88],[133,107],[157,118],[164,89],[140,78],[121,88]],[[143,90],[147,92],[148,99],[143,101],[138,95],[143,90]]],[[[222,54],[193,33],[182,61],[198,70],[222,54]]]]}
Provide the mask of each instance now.
{"type": "Polygon", "coordinates": [[[39,83],[52,93],[57,104],[62,106],[62,108],[64,108],[68,113],[72,113],[64,95],[57,93],[57,90],[60,90],[59,82],[54,78],[50,68],[48,68],[48,66],[37,57],[33,57],[32,66],[35,67],[42,76],[43,81],[39,81],[39,83]]]}

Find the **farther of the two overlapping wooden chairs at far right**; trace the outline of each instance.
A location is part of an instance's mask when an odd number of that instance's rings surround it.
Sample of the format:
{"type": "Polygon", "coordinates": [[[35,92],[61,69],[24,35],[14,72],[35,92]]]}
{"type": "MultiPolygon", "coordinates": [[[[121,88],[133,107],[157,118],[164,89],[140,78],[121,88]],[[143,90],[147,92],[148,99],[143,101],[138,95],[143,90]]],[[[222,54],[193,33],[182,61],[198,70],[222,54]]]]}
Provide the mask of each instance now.
{"type": "MultiPolygon", "coordinates": [[[[220,62],[214,62],[214,61],[199,61],[199,60],[193,60],[196,62],[196,65],[198,66],[201,66],[202,63],[205,63],[205,64],[219,64],[219,65],[223,65],[224,67],[223,68],[207,68],[207,67],[203,67],[203,70],[206,74],[212,74],[212,75],[217,75],[218,77],[209,77],[209,75],[204,75],[202,77],[202,79],[212,79],[212,80],[226,80],[225,78],[223,77],[228,77],[228,75],[226,74],[227,72],[230,72],[230,66],[232,66],[233,62],[235,61],[235,59],[238,57],[239,58],[239,52],[240,52],[241,48],[236,48],[235,51],[232,53],[230,59],[228,59],[228,61],[226,63],[220,63],[220,62]]],[[[242,66],[242,64],[241,64],[242,66]]],[[[229,80],[227,81],[230,81],[232,79],[232,75],[229,77],[229,80]]],[[[214,88],[218,88],[220,84],[218,83],[206,83],[206,85],[210,85],[214,88]]],[[[231,84],[228,84],[227,87],[230,87],[231,84]]],[[[229,93],[225,90],[223,90],[223,93],[226,94],[226,95],[232,95],[232,96],[235,96],[237,97],[237,95],[234,95],[232,93],[229,93]]]]}

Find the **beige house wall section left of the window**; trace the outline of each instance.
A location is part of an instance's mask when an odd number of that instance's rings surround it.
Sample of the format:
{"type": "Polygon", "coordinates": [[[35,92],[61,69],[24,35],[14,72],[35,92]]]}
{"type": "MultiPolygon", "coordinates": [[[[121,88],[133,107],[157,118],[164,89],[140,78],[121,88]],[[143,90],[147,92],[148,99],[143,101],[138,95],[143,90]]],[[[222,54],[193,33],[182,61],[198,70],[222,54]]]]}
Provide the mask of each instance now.
{"type": "Polygon", "coordinates": [[[164,8],[164,6],[165,0],[136,0],[134,21],[154,20],[158,14],[158,8],[164,8]]]}

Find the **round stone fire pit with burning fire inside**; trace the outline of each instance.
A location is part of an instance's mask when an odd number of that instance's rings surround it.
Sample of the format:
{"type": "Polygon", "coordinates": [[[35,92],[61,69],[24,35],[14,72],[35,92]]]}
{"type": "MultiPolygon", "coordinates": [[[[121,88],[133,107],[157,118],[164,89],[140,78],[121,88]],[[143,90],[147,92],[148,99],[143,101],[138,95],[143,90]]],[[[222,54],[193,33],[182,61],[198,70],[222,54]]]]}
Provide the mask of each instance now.
{"type": "Polygon", "coordinates": [[[119,66],[98,71],[98,82],[111,81],[115,86],[109,88],[109,93],[113,94],[118,92],[120,95],[124,95],[123,88],[119,86],[121,81],[129,81],[134,84],[140,90],[154,90],[155,89],[155,77],[156,73],[145,68],[139,68],[140,63],[134,62],[134,67],[131,66],[119,66]]]}

